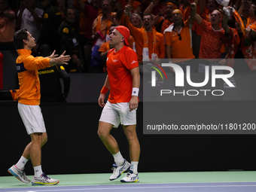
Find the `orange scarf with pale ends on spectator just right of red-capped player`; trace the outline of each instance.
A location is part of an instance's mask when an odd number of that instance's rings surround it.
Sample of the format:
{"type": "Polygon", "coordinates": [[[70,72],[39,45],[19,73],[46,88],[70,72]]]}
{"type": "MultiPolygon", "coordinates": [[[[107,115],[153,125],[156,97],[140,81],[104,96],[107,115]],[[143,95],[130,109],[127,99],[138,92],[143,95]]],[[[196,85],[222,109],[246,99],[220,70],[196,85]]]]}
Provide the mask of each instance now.
{"type": "MultiPolygon", "coordinates": [[[[153,32],[153,47],[152,47],[151,60],[154,60],[158,58],[157,53],[155,53],[155,51],[157,50],[157,36],[156,36],[157,30],[154,26],[152,27],[152,32],[153,32]]],[[[145,62],[145,61],[150,61],[150,59],[149,59],[149,52],[148,52],[148,35],[144,27],[142,27],[142,34],[143,34],[142,61],[145,62]]]]}

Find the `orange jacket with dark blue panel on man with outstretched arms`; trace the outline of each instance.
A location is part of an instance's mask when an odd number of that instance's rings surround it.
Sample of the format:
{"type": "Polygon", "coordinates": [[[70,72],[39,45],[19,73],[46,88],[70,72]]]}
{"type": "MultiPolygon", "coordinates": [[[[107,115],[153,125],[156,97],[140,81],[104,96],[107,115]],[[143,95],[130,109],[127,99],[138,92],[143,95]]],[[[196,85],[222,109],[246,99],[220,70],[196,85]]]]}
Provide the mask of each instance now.
{"type": "Polygon", "coordinates": [[[25,105],[40,105],[40,81],[38,69],[50,67],[50,58],[34,57],[31,50],[17,50],[16,67],[20,90],[17,90],[17,100],[25,105]]]}

